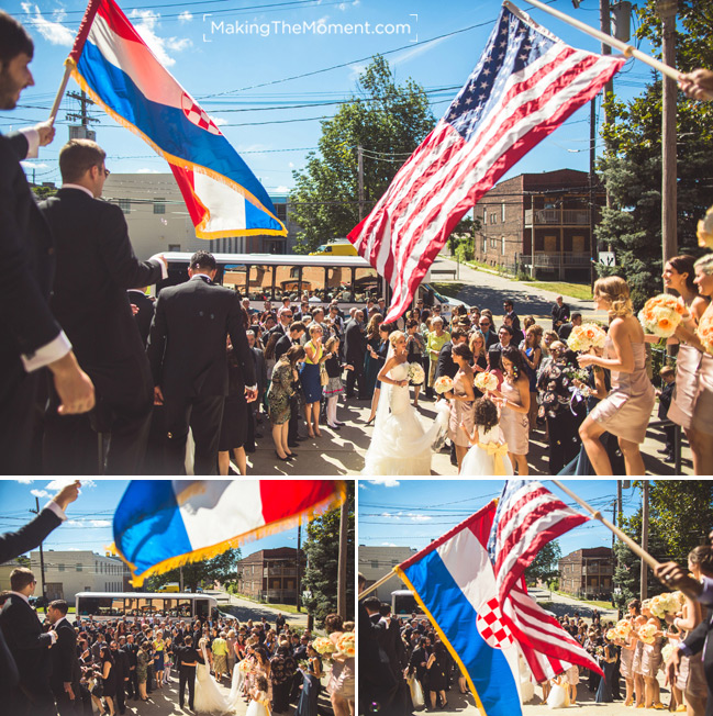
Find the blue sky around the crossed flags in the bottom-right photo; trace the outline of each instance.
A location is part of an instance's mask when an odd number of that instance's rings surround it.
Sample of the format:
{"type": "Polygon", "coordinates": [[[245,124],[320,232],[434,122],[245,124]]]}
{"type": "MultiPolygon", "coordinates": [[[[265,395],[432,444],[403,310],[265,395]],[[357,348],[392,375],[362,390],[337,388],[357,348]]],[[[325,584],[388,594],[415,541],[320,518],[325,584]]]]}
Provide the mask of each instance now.
{"type": "MultiPolygon", "coordinates": [[[[550,481],[545,486],[571,506],[577,506],[550,481]]],[[[611,522],[616,480],[568,480],[567,486],[611,522]]],[[[463,522],[493,497],[500,496],[503,480],[360,480],[359,545],[415,547],[428,542],[463,522]]],[[[624,514],[636,512],[640,493],[623,491],[624,514]]],[[[589,547],[611,547],[612,533],[597,521],[558,539],[562,555],[589,547]]]]}

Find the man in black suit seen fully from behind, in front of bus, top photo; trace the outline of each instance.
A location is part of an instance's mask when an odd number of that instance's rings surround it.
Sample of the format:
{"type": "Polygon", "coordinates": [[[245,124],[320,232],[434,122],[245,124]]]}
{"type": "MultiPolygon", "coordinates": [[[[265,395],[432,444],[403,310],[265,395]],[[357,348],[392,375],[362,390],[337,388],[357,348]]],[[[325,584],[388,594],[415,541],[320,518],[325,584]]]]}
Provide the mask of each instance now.
{"type": "Polygon", "coordinates": [[[148,336],[155,400],[166,406],[167,474],[185,474],[186,439],[193,430],[196,474],[218,474],[223,403],[227,395],[226,338],[243,371],[248,402],[257,398],[253,356],[239,298],[213,284],[215,259],[197,251],[189,280],[161,290],[148,336]]]}

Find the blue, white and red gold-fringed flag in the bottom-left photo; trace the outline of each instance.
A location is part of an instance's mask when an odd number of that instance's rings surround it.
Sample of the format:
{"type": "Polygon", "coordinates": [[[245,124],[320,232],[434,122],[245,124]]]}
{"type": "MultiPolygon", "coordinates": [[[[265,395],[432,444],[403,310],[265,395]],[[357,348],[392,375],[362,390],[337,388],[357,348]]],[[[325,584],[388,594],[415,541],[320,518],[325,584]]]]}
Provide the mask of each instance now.
{"type": "Polygon", "coordinates": [[[133,480],[114,513],[113,550],[134,586],[341,504],[342,480],[133,480]]]}

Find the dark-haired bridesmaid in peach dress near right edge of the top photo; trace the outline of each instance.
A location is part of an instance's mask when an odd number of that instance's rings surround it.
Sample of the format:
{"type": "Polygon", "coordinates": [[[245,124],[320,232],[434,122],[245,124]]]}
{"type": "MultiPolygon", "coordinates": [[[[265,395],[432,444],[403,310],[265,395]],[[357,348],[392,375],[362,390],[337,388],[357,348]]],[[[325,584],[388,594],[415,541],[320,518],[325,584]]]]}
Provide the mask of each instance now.
{"type": "Polygon", "coordinates": [[[709,441],[705,433],[697,430],[693,425],[693,404],[699,390],[698,373],[703,354],[691,342],[698,322],[708,307],[709,301],[698,292],[694,283],[695,258],[693,256],[675,256],[664,267],[664,287],[679,294],[687,313],[676,332],[679,349],[676,359],[676,390],[668,411],[668,418],[680,425],[686,433],[693,455],[693,469],[698,472],[704,444],[709,441]]]}

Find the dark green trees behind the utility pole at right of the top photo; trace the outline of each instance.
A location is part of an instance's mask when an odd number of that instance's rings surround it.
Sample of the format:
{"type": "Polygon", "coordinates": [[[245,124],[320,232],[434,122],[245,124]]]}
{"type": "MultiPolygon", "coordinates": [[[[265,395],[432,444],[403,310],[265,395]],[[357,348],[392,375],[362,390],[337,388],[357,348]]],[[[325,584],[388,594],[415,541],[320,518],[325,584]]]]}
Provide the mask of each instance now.
{"type": "MultiPolygon", "coordinates": [[[[660,47],[661,27],[655,0],[639,5],[639,38],[660,47]]],[[[710,5],[692,0],[679,3],[677,61],[679,69],[710,67],[713,24],[710,5]]],[[[616,79],[614,80],[616,86],[616,79]]],[[[617,267],[598,266],[600,276],[623,276],[640,307],[661,287],[661,82],[651,77],[642,94],[630,102],[606,103],[612,119],[603,136],[606,155],[600,163],[611,208],[602,211],[595,231],[600,246],[616,251],[617,267]]],[[[713,203],[711,152],[713,105],[694,102],[681,92],[677,114],[677,213],[679,253],[699,253],[695,224],[713,203]]]]}

